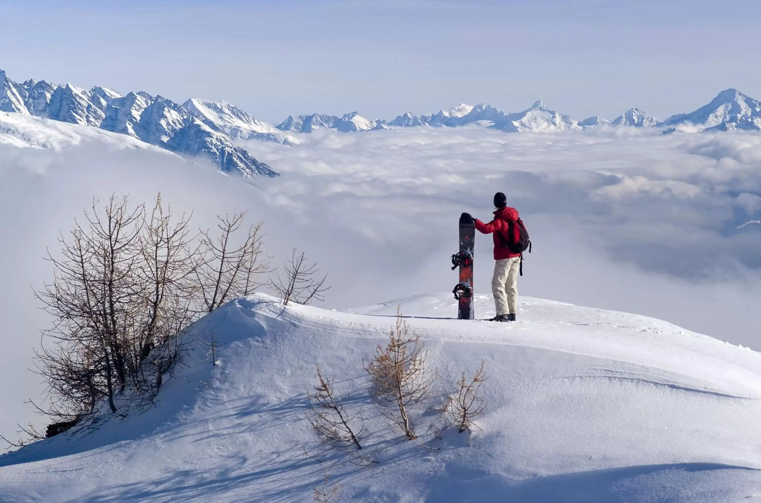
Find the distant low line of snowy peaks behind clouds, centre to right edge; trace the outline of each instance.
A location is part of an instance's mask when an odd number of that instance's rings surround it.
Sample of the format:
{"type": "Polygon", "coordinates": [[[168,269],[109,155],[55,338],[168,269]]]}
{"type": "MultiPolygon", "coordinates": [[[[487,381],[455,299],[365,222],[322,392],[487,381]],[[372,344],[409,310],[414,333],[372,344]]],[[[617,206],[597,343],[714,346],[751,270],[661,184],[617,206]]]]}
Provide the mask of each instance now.
{"type": "Polygon", "coordinates": [[[345,116],[328,116],[315,113],[309,116],[289,116],[278,129],[288,132],[312,132],[317,128],[352,132],[387,127],[455,127],[476,124],[506,132],[558,132],[581,130],[597,126],[632,126],[637,128],[657,127],[664,132],[696,132],[705,129],[756,129],[761,130],[761,103],[747,97],[736,89],[721,91],[711,103],[691,113],[680,113],[660,121],[654,116],[634,107],[613,120],[591,116],[577,120],[573,116],[550,110],[537,100],[531,107],[521,112],[505,113],[485,103],[468,105],[460,103],[450,110],[425,113],[420,116],[412,112],[403,113],[395,119],[365,119],[352,112],[345,116]]]}

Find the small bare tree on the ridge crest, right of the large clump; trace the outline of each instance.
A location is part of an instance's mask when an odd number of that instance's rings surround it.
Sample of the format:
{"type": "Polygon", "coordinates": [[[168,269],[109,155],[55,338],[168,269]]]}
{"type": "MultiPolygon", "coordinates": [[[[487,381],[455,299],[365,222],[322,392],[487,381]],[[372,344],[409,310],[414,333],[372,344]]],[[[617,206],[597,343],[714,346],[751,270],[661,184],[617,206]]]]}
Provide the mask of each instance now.
{"type": "Polygon", "coordinates": [[[269,285],[279,294],[285,306],[291,302],[309,304],[311,301],[323,301],[323,293],[330,290],[330,286],[325,285],[328,275],[318,279],[317,264],[307,263],[304,252],[298,253],[294,248],[291,258],[283,263],[283,269],[283,277],[276,274],[269,285]]]}

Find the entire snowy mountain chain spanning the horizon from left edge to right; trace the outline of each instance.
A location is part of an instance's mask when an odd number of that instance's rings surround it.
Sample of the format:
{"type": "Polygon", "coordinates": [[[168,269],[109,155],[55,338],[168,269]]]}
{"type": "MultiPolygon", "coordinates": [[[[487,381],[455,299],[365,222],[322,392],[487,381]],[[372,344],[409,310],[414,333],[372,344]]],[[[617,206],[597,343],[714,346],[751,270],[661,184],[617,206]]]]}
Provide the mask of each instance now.
{"type": "Polygon", "coordinates": [[[94,87],[86,91],[72,84],[54,86],[46,81],[33,80],[18,83],[11,81],[2,70],[0,111],[93,126],[139,138],[178,154],[205,155],[221,170],[238,172],[246,177],[277,174],[236,142],[256,139],[297,145],[302,140],[292,133],[310,133],[316,129],[361,132],[394,127],[474,124],[505,132],[561,132],[609,126],[657,128],[664,133],[761,130],[761,103],[736,89],[721,91],[704,107],[662,121],[636,107],[613,120],[600,116],[577,120],[551,110],[537,100],[526,110],[510,113],[485,103],[460,103],[437,113],[418,116],[406,112],[392,120],[367,119],[357,112],[343,116],[313,113],[288,116],[273,126],[225,101],[191,98],[180,104],[143,91],[123,96],[110,88],[94,87]]]}

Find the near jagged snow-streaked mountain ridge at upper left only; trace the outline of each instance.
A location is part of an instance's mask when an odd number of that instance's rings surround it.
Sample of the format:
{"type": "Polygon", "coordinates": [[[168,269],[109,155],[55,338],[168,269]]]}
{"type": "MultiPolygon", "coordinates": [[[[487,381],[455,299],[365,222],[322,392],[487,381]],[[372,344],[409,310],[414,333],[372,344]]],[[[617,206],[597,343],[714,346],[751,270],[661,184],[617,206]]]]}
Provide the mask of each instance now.
{"type": "Polygon", "coordinates": [[[18,83],[11,81],[2,70],[0,111],[129,135],[178,154],[209,157],[221,170],[244,177],[274,177],[277,173],[253,158],[246,149],[234,145],[235,140],[298,142],[297,138],[254,119],[230,103],[193,98],[180,105],[143,91],[122,96],[109,88],[95,87],[87,91],[72,84],[54,86],[31,79],[18,83]]]}

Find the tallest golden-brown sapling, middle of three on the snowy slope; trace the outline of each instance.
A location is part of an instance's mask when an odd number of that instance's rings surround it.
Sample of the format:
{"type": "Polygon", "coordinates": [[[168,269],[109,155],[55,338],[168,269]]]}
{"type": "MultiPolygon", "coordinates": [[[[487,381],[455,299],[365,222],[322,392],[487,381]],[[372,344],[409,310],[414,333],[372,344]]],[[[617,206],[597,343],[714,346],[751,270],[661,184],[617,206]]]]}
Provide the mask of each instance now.
{"type": "Polygon", "coordinates": [[[378,403],[409,440],[416,438],[409,417],[412,406],[431,394],[437,374],[425,365],[426,353],[419,336],[409,333],[409,326],[396,316],[396,326],[389,334],[386,347],[378,345],[375,358],[365,367],[371,381],[371,391],[378,403]]]}

